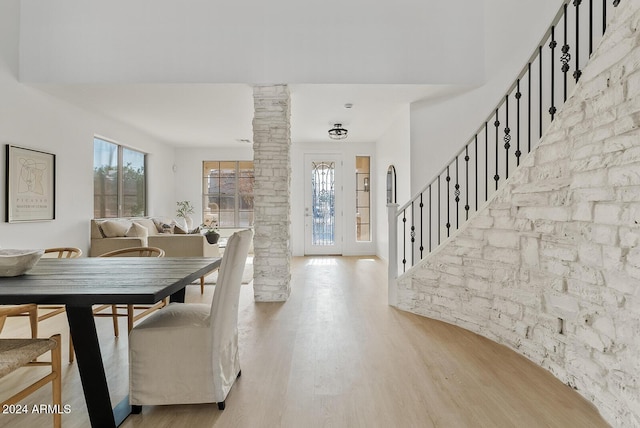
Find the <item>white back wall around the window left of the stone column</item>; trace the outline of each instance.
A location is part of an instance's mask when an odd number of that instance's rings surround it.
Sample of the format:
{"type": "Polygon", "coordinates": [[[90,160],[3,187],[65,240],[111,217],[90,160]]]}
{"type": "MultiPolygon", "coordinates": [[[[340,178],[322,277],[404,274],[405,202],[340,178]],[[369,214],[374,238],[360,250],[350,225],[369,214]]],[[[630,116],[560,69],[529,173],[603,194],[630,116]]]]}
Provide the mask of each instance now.
{"type": "Polygon", "coordinates": [[[192,215],[194,226],[202,223],[202,162],[210,160],[253,160],[253,146],[238,143],[238,147],[176,149],[175,173],[172,174],[176,190],[171,216],[175,215],[175,202],[188,200],[196,211],[192,215]]]}

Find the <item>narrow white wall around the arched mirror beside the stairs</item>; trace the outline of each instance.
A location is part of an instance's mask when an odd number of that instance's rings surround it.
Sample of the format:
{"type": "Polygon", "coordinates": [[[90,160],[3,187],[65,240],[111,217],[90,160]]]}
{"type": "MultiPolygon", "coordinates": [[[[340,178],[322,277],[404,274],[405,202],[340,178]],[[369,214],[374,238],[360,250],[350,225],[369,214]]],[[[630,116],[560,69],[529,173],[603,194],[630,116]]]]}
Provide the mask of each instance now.
{"type": "Polygon", "coordinates": [[[409,106],[400,111],[393,124],[376,142],[375,180],[376,188],[376,254],[388,260],[389,256],[389,225],[387,220],[387,169],[394,165],[398,188],[397,201],[403,203],[409,200],[411,160],[410,153],[410,124],[409,106]]]}

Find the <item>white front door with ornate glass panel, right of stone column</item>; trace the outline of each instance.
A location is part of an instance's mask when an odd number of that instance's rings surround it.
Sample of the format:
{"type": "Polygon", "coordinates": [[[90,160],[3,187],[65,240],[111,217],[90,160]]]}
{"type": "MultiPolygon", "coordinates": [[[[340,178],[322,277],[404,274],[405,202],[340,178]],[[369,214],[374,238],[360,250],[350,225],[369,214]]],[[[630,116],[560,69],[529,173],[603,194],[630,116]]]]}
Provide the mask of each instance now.
{"type": "Polygon", "coordinates": [[[342,254],[341,173],[339,155],[305,155],[306,255],[342,254]]]}

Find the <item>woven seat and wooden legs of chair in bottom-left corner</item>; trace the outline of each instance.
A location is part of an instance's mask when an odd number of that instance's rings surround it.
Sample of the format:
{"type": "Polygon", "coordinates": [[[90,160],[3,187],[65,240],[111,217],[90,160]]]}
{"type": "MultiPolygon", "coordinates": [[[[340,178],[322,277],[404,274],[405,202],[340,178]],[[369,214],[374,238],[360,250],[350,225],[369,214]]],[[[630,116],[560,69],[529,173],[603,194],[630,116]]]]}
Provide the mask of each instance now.
{"type": "Polygon", "coordinates": [[[48,339],[0,339],[0,378],[26,366],[51,366],[51,372],[40,377],[34,383],[18,391],[0,405],[3,409],[21,403],[25,397],[51,382],[54,408],[53,426],[62,426],[62,356],[60,352],[60,335],[55,334],[48,339]],[[36,359],[51,351],[51,361],[36,359]]]}

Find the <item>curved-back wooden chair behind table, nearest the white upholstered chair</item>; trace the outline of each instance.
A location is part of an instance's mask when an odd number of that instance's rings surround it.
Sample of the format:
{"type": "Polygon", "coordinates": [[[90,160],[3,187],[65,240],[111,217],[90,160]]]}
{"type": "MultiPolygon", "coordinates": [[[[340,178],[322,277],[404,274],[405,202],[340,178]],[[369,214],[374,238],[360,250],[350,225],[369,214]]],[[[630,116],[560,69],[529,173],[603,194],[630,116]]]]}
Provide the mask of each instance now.
{"type": "MultiPolygon", "coordinates": [[[[157,247],[129,247],[119,250],[109,251],[99,255],[98,257],[164,257],[164,250],[157,247]]],[[[156,311],[168,303],[168,299],[154,305],[127,305],[126,307],[118,305],[100,305],[93,309],[93,315],[96,317],[111,317],[113,319],[113,332],[116,337],[119,336],[118,317],[127,317],[127,331],[131,332],[133,323],[145,317],[153,311],[156,311]],[[111,308],[110,313],[102,313],[102,311],[111,308]],[[121,313],[120,309],[126,309],[126,313],[121,313]],[[135,310],[142,310],[136,314],[135,310]]]]}

